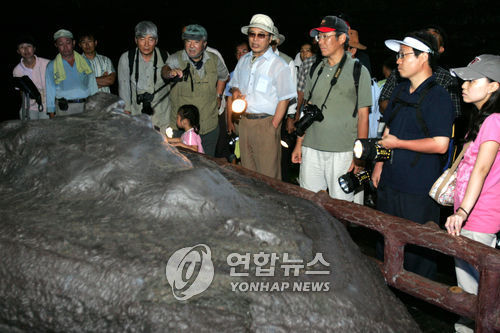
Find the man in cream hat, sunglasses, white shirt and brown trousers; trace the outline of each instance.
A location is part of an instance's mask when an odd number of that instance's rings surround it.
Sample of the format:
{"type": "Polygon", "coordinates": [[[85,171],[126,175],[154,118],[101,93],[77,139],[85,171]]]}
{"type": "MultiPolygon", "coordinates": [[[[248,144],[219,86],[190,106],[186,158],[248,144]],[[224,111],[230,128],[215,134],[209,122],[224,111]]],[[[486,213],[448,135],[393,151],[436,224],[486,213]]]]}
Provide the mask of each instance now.
{"type": "Polygon", "coordinates": [[[280,124],[297,90],[290,67],[270,47],[273,20],[256,14],[241,32],[252,51],[240,58],[229,82],[233,100],[247,102],[239,125],[241,164],[281,179],[280,124]]]}

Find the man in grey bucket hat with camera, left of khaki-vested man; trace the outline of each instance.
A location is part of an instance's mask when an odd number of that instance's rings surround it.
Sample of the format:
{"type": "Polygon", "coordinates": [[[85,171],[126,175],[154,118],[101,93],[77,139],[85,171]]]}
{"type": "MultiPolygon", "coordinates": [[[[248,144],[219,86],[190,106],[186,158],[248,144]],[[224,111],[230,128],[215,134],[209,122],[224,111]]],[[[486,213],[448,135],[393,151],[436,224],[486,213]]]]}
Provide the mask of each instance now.
{"type": "Polygon", "coordinates": [[[118,94],[125,101],[125,112],[151,115],[154,128],[165,133],[169,87],[161,79],[161,68],[168,54],[157,47],[158,29],[153,22],[135,26],[135,43],[137,48],[124,52],[118,62],[118,94]]]}

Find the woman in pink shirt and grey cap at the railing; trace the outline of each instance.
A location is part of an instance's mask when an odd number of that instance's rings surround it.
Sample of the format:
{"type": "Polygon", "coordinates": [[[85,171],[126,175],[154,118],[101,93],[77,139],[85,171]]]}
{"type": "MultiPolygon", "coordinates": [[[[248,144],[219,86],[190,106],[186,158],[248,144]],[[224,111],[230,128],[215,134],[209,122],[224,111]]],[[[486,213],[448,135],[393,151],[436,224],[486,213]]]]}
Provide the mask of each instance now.
{"type": "MultiPolygon", "coordinates": [[[[500,230],[500,56],[481,55],[452,71],[465,80],[462,96],[474,111],[466,135],[472,143],[458,166],[455,214],[446,220],[446,229],[495,247],[500,230]]],[[[455,270],[458,286],[477,295],[479,273],[460,259],[455,270]]],[[[459,321],[455,330],[468,328],[459,321]]]]}

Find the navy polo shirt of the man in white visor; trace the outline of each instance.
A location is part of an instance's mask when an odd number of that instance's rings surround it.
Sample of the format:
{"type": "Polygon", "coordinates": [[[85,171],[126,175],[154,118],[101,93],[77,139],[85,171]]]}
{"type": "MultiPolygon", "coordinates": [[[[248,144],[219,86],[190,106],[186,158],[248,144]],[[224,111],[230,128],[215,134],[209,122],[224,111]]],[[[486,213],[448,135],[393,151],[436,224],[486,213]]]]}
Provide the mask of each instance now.
{"type": "MultiPolygon", "coordinates": [[[[391,118],[395,108],[399,108],[396,117],[389,126],[389,133],[402,140],[423,139],[422,125],[417,120],[417,112],[411,106],[398,106],[394,103],[399,97],[408,103],[418,103],[422,89],[431,81],[434,75],[422,82],[418,88],[410,94],[410,81],[400,83],[391,95],[389,106],[384,112],[384,121],[391,118]]],[[[421,113],[428,128],[429,136],[450,137],[452,132],[455,112],[450,94],[440,85],[435,85],[427,92],[421,104],[421,113]]],[[[406,149],[394,149],[392,159],[384,162],[381,186],[388,186],[404,193],[425,194],[428,193],[432,184],[441,174],[441,155],[417,153],[406,149]],[[417,163],[412,166],[415,157],[417,163]]]]}

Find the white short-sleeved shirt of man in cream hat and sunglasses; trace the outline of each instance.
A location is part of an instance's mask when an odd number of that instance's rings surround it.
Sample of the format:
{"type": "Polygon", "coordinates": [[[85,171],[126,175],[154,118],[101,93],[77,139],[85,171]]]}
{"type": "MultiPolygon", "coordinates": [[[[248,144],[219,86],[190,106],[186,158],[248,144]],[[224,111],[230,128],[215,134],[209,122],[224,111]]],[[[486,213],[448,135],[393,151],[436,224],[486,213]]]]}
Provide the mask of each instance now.
{"type": "Polygon", "coordinates": [[[274,115],[280,101],[297,97],[297,87],[288,64],[267,51],[252,62],[253,52],[240,58],[229,82],[246,96],[247,113],[274,115]]]}

